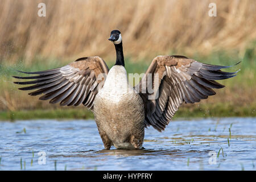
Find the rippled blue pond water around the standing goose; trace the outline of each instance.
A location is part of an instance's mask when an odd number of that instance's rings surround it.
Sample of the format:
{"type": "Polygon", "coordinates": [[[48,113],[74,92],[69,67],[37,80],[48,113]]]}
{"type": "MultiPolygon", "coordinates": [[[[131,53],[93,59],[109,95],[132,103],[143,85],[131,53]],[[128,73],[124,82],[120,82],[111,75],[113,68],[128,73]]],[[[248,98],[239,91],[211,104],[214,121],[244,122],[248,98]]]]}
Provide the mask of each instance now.
{"type": "Polygon", "coordinates": [[[172,121],[143,150],[103,150],[93,120],[0,122],[0,170],[255,170],[256,118],[172,121]]]}

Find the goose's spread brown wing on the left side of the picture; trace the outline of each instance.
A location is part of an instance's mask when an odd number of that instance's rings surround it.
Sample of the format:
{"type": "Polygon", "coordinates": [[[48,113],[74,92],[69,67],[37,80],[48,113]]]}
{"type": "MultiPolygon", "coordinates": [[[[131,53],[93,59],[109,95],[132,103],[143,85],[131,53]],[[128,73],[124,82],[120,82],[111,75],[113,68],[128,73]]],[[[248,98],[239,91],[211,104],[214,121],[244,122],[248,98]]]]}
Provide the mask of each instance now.
{"type": "MultiPolygon", "coordinates": [[[[21,72],[21,71],[19,71],[21,72]]],[[[19,90],[35,90],[31,96],[44,94],[40,100],[50,100],[51,104],[60,102],[61,106],[85,105],[93,110],[94,97],[102,88],[109,68],[98,56],[82,57],[61,68],[39,72],[22,72],[37,76],[13,76],[33,81],[14,82],[20,85],[31,85],[19,90]]]]}

